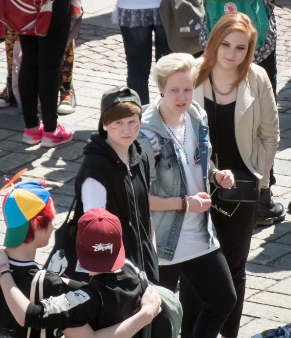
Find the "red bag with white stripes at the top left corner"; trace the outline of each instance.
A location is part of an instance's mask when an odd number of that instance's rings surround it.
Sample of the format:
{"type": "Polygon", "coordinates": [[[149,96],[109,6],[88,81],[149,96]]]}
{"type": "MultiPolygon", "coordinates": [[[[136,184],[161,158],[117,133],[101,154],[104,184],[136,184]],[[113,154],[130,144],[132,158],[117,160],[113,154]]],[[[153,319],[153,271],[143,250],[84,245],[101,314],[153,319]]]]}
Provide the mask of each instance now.
{"type": "Polygon", "coordinates": [[[0,0],[0,21],[19,34],[45,36],[53,0],[0,0]]]}

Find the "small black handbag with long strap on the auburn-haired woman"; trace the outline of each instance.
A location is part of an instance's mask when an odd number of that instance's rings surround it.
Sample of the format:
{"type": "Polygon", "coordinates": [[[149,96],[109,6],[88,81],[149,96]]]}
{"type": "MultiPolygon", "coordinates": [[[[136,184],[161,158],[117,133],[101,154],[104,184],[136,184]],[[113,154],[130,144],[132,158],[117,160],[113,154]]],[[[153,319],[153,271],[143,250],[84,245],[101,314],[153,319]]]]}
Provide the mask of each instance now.
{"type": "MultiPolygon", "coordinates": [[[[216,145],[217,143],[217,128],[216,128],[216,115],[217,105],[216,97],[212,85],[212,77],[209,76],[212,86],[212,96],[214,103],[214,117],[215,117],[215,135],[216,145]]],[[[216,157],[216,169],[218,169],[218,156],[216,157]]],[[[218,169],[219,170],[219,169],[218,169]]],[[[235,177],[234,185],[230,189],[218,188],[218,198],[221,201],[229,202],[256,202],[259,199],[259,180],[250,172],[246,170],[232,170],[235,177]]]]}

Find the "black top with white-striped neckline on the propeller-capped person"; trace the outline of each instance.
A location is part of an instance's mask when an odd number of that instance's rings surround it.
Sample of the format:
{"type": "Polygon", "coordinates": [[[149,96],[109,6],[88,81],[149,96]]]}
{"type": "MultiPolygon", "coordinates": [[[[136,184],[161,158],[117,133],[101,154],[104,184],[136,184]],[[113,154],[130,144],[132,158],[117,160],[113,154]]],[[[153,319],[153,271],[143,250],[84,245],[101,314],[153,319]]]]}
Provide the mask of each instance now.
{"type": "MultiPolygon", "coordinates": [[[[23,292],[23,294],[29,299],[30,295],[30,286],[33,280],[34,275],[39,270],[39,266],[34,261],[19,261],[9,259],[10,269],[13,270],[12,277],[15,281],[15,284],[23,292]]],[[[44,281],[44,296],[57,296],[64,292],[69,292],[70,290],[78,289],[82,283],[80,282],[70,282],[69,285],[66,285],[59,276],[54,274],[51,271],[46,273],[44,281]]],[[[35,300],[39,299],[38,295],[38,286],[36,287],[35,300]]],[[[3,292],[0,288],[0,328],[15,330],[19,332],[22,337],[26,337],[27,328],[20,326],[12,313],[10,312],[3,295],[3,292]]],[[[39,338],[39,330],[31,330],[30,338],[39,338]]],[[[53,330],[47,330],[47,338],[52,338],[53,330]]]]}

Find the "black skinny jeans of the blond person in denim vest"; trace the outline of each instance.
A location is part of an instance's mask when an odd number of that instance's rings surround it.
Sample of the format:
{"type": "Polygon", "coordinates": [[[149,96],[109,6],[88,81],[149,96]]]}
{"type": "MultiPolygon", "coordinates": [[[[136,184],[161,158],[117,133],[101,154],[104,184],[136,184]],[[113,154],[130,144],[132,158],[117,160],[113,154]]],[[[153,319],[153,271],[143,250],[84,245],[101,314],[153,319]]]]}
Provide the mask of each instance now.
{"type": "MultiPolygon", "coordinates": [[[[192,315],[195,326],[190,336],[185,336],[183,322],[181,338],[216,338],[229,313],[236,304],[236,291],[221,249],[173,265],[159,266],[159,285],[175,292],[178,280],[184,275],[203,302],[199,313],[193,312],[195,303],[183,306],[183,317],[192,315]]],[[[180,298],[183,286],[180,284],[180,298]]]]}

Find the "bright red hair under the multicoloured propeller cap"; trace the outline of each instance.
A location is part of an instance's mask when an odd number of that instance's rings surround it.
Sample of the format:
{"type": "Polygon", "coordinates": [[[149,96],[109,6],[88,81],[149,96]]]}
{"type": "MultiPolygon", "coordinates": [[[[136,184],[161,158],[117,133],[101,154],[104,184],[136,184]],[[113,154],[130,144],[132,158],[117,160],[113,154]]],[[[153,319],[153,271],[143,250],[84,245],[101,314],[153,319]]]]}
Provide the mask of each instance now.
{"type": "MultiPolygon", "coordinates": [[[[41,182],[41,184],[44,187],[46,186],[46,183],[44,181],[39,180],[39,182],[41,182]]],[[[48,226],[53,221],[54,216],[55,216],[55,210],[53,207],[53,200],[52,200],[52,197],[50,197],[45,208],[43,208],[36,216],[31,218],[24,243],[30,243],[33,241],[34,231],[36,229],[39,229],[39,230],[48,229],[48,226]]]]}

